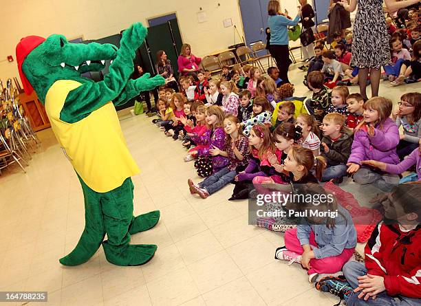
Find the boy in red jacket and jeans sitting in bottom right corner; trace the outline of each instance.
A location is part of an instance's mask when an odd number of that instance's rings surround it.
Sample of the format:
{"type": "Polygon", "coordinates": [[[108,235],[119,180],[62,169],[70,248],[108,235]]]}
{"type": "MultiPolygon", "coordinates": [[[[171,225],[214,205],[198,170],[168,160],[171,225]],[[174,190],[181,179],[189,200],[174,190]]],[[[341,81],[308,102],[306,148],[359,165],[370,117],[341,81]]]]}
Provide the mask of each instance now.
{"type": "Polygon", "coordinates": [[[385,219],[365,246],[365,264],[349,261],[345,278],[327,276],[316,288],[354,305],[421,305],[421,184],[400,184],[382,199],[385,219]]]}

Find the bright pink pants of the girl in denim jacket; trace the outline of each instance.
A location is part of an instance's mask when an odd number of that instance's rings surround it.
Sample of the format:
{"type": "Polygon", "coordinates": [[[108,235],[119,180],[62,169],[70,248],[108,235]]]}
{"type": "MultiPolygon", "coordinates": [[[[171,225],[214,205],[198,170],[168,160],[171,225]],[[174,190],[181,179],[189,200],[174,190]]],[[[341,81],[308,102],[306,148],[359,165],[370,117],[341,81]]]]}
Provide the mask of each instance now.
{"type": "MultiPolygon", "coordinates": [[[[318,248],[316,241],[314,240],[314,232],[310,232],[310,245],[318,248]]],[[[301,243],[296,237],[296,228],[291,228],[285,232],[285,247],[297,254],[303,254],[304,250],[301,247],[301,243]]],[[[336,273],[342,270],[343,265],[351,258],[354,254],[354,248],[344,249],[343,252],[337,256],[325,257],[323,259],[311,259],[310,265],[312,268],[307,271],[308,274],[313,273],[336,273]]]]}

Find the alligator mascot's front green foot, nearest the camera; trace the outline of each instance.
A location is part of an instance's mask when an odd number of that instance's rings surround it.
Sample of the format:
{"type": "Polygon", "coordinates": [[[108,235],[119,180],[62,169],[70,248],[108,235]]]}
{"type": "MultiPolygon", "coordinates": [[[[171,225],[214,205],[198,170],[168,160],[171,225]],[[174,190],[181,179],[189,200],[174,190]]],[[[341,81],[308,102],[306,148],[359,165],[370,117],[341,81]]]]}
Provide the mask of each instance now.
{"type": "Polygon", "coordinates": [[[158,246],[154,244],[128,244],[118,247],[102,242],[107,261],[114,265],[143,265],[155,255],[158,246]]]}

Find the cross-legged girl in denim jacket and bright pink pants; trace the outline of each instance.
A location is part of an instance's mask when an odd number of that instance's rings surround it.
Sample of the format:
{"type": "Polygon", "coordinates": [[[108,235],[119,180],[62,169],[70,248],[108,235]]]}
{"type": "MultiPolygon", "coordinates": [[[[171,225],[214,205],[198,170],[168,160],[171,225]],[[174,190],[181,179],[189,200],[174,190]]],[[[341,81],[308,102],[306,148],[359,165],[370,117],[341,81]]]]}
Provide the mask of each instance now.
{"type": "Polygon", "coordinates": [[[349,212],[336,202],[333,195],[318,184],[305,184],[296,193],[326,200],[314,205],[313,201],[296,201],[296,210],[305,216],[297,228],[285,232],[285,246],[277,248],[275,259],[301,263],[307,270],[308,281],[314,283],[319,274],[332,274],[342,270],[356,247],[356,230],[349,212]],[[336,215],[313,217],[311,212],[336,212],[336,215]]]}

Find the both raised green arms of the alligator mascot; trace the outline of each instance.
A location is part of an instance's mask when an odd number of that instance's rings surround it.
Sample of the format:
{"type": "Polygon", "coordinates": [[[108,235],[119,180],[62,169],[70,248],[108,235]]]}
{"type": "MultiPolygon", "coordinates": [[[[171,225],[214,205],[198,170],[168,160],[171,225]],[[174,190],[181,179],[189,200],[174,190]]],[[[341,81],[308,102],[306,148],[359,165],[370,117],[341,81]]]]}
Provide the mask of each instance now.
{"type": "Polygon", "coordinates": [[[116,105],[122,105],[137,96],[140,91],[163,85],[165,80],[162,76],[149,78],[149,74],[129,81],[133,73],[135,52],[146,36],[147,29],[140,23],[125,30],[116,59],[109,66],[109,74],[100,82],[88,81],[70,91],[60,113],[60,119],[68,123],[78,122],[111,100],[116,100],[114,102],[116,105]]]}

